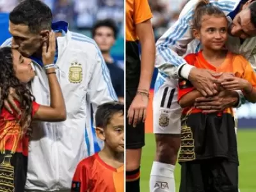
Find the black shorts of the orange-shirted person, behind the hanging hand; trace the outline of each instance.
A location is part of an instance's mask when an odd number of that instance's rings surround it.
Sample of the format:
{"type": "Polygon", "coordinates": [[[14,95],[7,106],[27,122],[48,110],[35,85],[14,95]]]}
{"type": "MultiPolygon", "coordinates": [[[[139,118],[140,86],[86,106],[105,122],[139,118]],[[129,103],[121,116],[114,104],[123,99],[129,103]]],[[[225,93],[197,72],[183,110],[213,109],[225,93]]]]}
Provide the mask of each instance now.
{"type": "MultiPolygon", "coordinates": [[[[125,104],[126,114],[136,95],[136,89],[126,89],[125,104]]],[[[145,124],[140,122],[136,127],[128,124],[128,118],[126,118],[125,127],[125,147],[130,149],[142,148],[145,145],[145,124]]]]}

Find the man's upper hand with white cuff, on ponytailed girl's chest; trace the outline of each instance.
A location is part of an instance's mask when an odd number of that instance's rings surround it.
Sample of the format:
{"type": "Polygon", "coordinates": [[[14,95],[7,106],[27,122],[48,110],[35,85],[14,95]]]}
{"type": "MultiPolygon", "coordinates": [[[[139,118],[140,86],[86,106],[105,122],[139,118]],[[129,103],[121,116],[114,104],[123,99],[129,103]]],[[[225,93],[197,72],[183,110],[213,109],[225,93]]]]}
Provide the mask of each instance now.
{"type": "Polygon", "coordinates": [[[220,77],[221,74],[213,72],[211,70],[205,70],[202,68],[192,68],[188,80],[204,97],[212,96],[218,93],[216,77],[220,77]]]}

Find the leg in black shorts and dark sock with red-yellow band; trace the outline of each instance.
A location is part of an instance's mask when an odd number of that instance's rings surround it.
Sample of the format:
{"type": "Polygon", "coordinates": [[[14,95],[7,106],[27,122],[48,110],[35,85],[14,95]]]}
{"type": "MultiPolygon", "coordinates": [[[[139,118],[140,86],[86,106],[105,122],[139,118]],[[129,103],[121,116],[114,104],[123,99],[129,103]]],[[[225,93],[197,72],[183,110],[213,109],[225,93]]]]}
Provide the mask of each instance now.
{"type": "MultiPolygon", "coordinates": [[[[125,102],[126,109],[129,109],[132,100],[136,95],[136,90],[126,90],[125,102]]],[[[127,112],[127,111],[126,111],[127,112]]],[[[140,191],[140,162],[141,149],[145,145],[145,128],[140,123],[136,127],[125,125],[125,172],[126,172],[126,191],[140,191]]]]}

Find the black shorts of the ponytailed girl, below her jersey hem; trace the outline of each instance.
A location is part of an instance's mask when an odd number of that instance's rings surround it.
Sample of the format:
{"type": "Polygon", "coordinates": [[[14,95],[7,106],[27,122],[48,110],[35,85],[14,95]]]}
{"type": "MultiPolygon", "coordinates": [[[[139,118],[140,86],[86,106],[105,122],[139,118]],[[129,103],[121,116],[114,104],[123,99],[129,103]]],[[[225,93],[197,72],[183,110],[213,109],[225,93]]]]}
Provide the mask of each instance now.
{"type": "Polygon", "coordinates": [[[180,164],[180,192],[238,191],[237,163],[214,158],[180,164]]]}

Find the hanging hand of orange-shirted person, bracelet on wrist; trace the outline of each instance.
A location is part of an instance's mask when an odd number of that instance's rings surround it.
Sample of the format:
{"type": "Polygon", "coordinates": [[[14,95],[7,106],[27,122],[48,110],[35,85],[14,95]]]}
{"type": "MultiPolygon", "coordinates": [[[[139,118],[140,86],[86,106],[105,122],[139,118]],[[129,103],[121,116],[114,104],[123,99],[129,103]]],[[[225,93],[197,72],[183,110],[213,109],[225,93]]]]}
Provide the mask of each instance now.
{"type": "Polygon", "coordinates": [[[147,107],[148,107],[148,96],[144,94],[136,94],[132,100],[132,104],[127,112],[127,118],[129,125],[136,125],[141,122],[145,122],[147,116],[147,107]]]}

